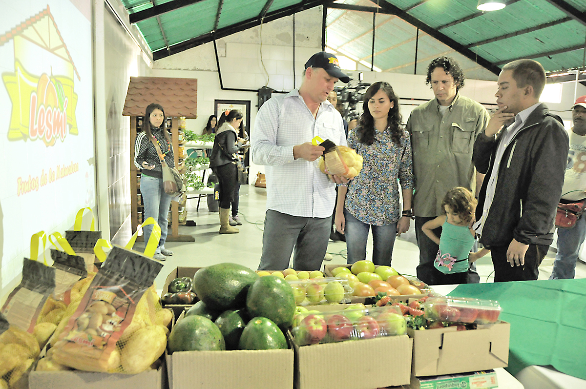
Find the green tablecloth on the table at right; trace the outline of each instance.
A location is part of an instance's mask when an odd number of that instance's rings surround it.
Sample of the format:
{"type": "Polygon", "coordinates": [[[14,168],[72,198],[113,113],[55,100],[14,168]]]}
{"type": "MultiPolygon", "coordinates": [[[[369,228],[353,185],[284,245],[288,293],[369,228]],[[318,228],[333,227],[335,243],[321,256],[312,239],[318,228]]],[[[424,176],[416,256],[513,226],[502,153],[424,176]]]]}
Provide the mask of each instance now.
{"type": "Polygon", "coordinates": [[[511,323],[513,376],[531,365],[551,365],[586,380],[586,279],[463,284],[450,296],[497,300],[511,323]]]}

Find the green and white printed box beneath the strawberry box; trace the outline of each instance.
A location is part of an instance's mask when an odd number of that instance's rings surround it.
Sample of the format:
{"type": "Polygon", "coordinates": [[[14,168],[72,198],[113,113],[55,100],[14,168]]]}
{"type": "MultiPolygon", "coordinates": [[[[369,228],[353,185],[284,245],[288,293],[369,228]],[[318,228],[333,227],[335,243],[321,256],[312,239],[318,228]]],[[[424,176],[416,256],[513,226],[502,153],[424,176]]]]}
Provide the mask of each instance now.
{"type": "Polygon", "coordinates": [[[409,389],[493,389],[498,388],[494,370],[475,371],[473,373],[449,374],[447,376],[413,377],[409,389]]]}

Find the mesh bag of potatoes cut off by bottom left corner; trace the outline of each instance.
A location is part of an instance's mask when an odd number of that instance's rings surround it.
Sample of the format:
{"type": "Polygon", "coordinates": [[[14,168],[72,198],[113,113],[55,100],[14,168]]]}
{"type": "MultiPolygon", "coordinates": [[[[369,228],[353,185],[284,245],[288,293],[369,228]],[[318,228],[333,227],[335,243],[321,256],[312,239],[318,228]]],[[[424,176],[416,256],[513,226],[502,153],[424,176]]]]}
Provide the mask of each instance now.
{"type": "Polygon", "coordinates": [[[35,337],[9,325],[0,313],[0,389],[28,388],[26,375],[39,352],[35,337]]]}

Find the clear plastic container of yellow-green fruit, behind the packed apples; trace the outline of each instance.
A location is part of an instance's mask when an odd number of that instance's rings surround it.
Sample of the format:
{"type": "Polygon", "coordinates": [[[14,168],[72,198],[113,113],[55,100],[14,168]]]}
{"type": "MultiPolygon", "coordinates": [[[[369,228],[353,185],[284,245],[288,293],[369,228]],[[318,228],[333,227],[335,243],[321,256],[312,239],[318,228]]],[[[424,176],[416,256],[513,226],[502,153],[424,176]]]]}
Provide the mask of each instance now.
{"type": "Polygon", "coordinates": [[[292,279],[287,281],[293,288],[297,305],[325,303],[349,303],[354,289],[342,277],[292,279]]]}

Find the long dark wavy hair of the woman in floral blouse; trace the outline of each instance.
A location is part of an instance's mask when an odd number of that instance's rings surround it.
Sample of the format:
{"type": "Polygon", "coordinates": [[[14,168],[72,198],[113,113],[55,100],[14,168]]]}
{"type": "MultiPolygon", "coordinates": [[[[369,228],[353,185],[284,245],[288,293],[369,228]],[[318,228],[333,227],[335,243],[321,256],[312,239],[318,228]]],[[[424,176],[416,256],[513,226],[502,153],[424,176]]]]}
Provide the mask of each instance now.
{"type": "Polygon", "coordinates": [[[389,83],[379,81],[372,84],[364,93],[364,103],[362,103],[362,115],[360,115],[358,137],[360,143],[365,145],[372,145],[374,143],[374,118],[370,114],[368,108],[368,101],[379,91],[382,90],[393,102],[393,108],[389,110],[389,117],[387,118],[387,127],[391,130],[391,139],[397,145],[401,145],[401,137],[403,136],[403,118],[399,112],[399,99],[393,91],[393,87],[389,83]]]}

